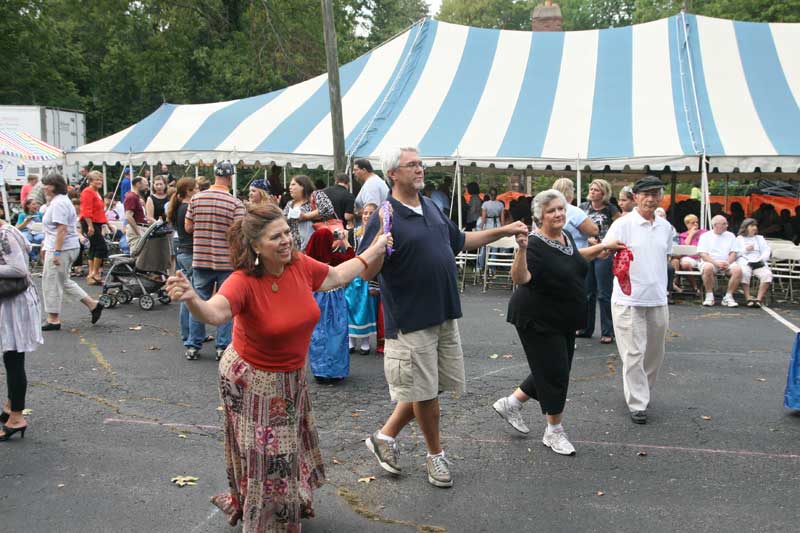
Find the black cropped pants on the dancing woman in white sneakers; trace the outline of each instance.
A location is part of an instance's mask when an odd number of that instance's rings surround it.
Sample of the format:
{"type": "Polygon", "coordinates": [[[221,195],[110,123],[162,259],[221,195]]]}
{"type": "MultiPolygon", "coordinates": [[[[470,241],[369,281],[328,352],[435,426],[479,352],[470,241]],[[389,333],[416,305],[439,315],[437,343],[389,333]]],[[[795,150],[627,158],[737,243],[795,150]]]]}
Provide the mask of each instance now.
{"type": "Polygon", "coordinates": [[[517,328],[519,340],[528,358],[530,375],[519,387],[539,401],[542,413],[557,415],[564,411],[569,388],[569,371],[575,354],[575,334],[539,333],[531,328],[517,328]]]}

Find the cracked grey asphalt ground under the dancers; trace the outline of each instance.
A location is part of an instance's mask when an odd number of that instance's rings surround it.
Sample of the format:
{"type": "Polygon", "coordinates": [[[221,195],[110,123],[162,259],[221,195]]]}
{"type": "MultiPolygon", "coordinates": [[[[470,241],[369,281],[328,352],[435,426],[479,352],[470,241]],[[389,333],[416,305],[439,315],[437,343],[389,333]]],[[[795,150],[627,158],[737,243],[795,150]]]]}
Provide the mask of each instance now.
{"type": "MultiPolygon", "coordinates": [[[[782,406],[794,342],[784,324],[764,310],[672,306],[645,426],[627,416],[614,345],[579,339],[564,421],[578,453],[562,457],[541,444],[536,404],[527,437],[490,407],[527,371],[505,323],[509,295],[463,296],[468,392],[442,401],[452,489],[427,483],[413,424],[399,478],[364,447],[391,411],[379,357],[354,355],[343,383],[312,384],[329,483],[304,530],[797,530],[800,416],[782,406]]],[[[28,357],[29,431],[0,443],[0,529],[236,530],[208,501],[226,486],[213,348],[186,361],[177,306],[156,305],[107,310],[95,326],[71,305],[28,357]],[[197,484],[179,488],[178,475],[197,484]]],[[[775,310],[800,324],[797,306],[775,310]]]]}

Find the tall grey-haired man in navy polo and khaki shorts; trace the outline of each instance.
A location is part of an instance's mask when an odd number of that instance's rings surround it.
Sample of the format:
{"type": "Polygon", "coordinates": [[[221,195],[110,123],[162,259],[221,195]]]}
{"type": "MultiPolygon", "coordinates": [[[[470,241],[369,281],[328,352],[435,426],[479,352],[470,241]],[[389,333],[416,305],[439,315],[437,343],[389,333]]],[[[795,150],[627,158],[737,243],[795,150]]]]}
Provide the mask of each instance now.
{"type": "MultiPolygon", "coordinates": [[[[451,487],[453,479],[439,442],[439,393],[465,391],[464,354],[456,319],[461,317],[455,256],[501,237],[528,233],[515,222],[463,233],[423,196],[425,172],[416,148],[396,148],[383,158],[394,252],[371,264],[362,278],[381,284],[386,352],[384,372],[397,402],[384,426],[366,440],[384,470],[400,474],[396,437],[414,418],[428,447],[428,481],[451,487]]],[[[362,247],[382,231],[382,207],[367,223],[362,247]]]]}

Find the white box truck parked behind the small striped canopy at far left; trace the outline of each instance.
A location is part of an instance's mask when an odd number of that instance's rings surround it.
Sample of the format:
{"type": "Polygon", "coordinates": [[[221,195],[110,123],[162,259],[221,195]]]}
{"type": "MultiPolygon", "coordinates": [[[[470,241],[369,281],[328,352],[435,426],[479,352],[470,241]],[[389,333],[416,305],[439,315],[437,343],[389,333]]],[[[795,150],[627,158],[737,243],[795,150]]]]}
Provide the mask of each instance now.
{"type": "MultiPolygon", "coordinates": [[[[44,106],[0,106],[0,129],[24,131],[65,152],[86,144],[86,114],[73,109],[44,106]]],[[[2,157],[2,156],[0,156],[2,157]]],[[[41,177],[44,168],[40,164],[17,165],[3,158],[0,172],[10,187],[21,187],[28,174],[41,177]]],[[[75,169],[64,169],[64,174],[73,177],[75,169]]]]}

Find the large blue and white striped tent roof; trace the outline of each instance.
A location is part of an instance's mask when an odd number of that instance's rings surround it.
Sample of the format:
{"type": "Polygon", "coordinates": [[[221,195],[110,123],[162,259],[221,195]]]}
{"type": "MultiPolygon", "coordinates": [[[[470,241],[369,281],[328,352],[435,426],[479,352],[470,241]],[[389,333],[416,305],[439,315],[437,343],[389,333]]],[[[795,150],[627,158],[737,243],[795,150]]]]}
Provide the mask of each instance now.
{"type": "MultiPolygon", "coordinates": [[[[800,24],[679,14],[578,32],[425,19],[341,67],[346,148],[417,145],[481,167],[797,172],[800,24]]],[[[229,102],[164,104],[72,163],[230,159],[331,168],[327,75],[229,102]]]]}

